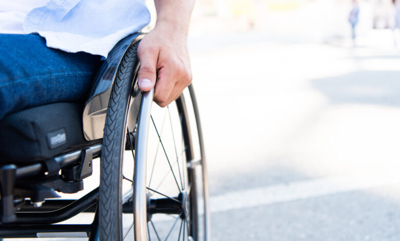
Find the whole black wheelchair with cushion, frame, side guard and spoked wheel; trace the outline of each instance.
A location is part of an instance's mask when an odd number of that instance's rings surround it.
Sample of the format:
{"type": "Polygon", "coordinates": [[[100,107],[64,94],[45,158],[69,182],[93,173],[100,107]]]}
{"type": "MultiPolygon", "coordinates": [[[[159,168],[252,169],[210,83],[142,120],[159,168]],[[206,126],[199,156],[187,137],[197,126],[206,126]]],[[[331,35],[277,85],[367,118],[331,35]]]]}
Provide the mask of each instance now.
{"type": "Polygon", "coordinates": [[[154,91],[137,86],[143,36],[114,46],[86,103],[52,103],[0,120],[0,239],[208,239],[193,87],[165,108],[152,105],[154,91]],[[75,199],[60,196],[83,191],[95,165],[98,187],[75,199]],[[79,215],[89,222],[66,224],[79,215]]]}

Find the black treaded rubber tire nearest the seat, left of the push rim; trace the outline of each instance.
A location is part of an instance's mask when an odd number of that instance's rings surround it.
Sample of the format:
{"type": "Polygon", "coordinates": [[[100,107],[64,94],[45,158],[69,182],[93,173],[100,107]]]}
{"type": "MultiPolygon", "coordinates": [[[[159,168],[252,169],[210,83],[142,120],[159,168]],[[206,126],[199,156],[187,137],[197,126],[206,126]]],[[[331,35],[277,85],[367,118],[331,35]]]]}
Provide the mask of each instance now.
{"type": "Polygon", "coordinates": [[[99,239],[123,240],[122,158],[128,107],[138,66],[138,42],[125,53],[114,80],[104,127],[99,186],[99,239]]]}

